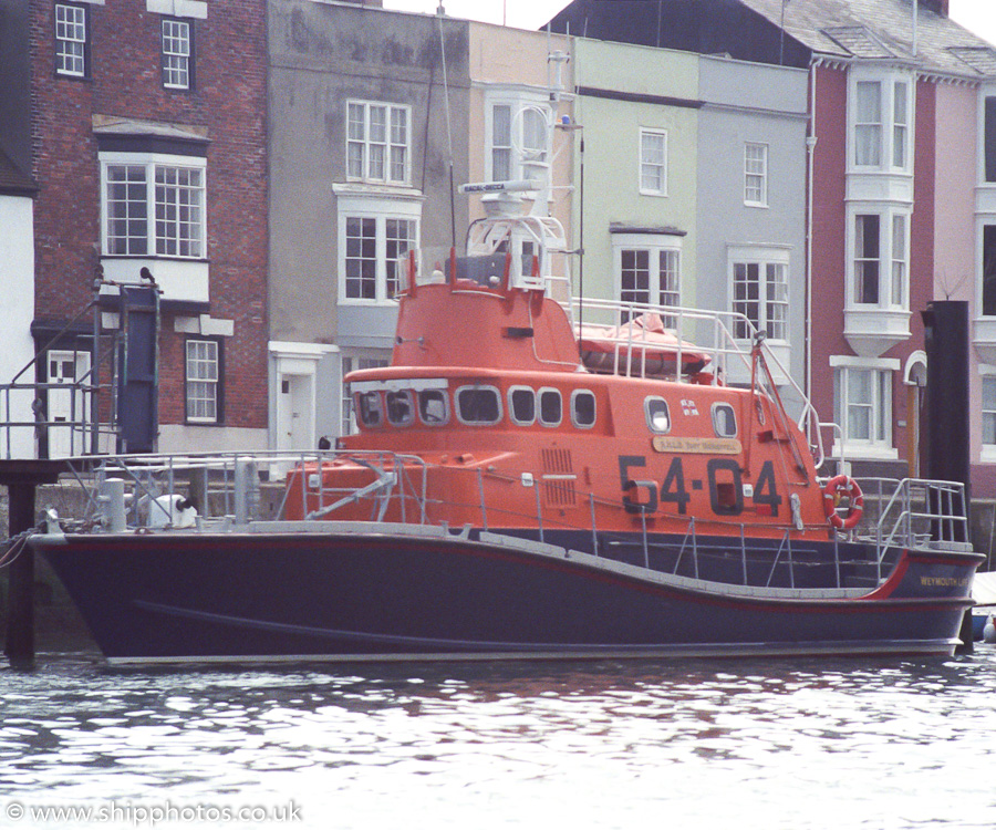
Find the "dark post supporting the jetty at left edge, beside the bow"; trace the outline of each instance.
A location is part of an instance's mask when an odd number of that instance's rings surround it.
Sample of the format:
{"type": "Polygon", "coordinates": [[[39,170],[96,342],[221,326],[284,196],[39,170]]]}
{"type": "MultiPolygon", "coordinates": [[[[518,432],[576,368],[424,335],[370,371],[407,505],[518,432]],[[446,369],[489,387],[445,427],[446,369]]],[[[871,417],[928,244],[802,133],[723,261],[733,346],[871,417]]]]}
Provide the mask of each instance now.
{"type": "MultiPolygon", "coordinates": [[[[34,527],[34,484],[8,485],[10,536],[34,527]]],[[[15,668],[34,667],[34,551],[24,547],[8,570],[7,646],[15,668]]]]}

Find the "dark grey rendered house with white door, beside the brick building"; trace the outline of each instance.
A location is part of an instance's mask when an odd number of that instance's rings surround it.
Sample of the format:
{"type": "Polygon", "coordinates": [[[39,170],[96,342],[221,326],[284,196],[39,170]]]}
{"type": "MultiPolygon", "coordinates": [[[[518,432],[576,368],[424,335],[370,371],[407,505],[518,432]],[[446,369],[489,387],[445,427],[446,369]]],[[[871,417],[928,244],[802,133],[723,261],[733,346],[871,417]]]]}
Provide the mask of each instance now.
{"type": "Polygon", "coordinates": [[[397,257],[464,237],[468,24],[322,0],[269,15],[270,446],[313,448],[351,427],[344,375],[391,356],[397,257]]]}

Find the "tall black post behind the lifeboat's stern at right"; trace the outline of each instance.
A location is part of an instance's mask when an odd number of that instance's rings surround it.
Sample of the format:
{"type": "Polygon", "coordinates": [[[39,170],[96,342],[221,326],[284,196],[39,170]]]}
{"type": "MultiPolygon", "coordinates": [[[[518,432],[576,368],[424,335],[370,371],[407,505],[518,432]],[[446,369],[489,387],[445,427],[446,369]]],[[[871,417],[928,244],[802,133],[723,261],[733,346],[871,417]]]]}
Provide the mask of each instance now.
{"type": "MultiPolygon", "coordinates": [[[[968,303],[942,300],[922,312],[927,354],[927,478],[959,481],[965,486],[961,505],[968,516],[972,486],[968,418],[968,303]]],[[[935,495],[938,498],[940,494],[935,495]]],[[[937,505],[932,505],[936,508],[937,505]]],[[[957,507],[957,506],[955,506],[957,507]]],[[[936,512],[936,510],[935,510],[936,512]]],[[[936,522],[934,533],[941,529],[936,522]]],[[[968,541],[968,529],[955,526],[955,540],[968,541]]],[[[961,652],[973,650],[972,611],[966,611],[959,633],[961,652]]]]}

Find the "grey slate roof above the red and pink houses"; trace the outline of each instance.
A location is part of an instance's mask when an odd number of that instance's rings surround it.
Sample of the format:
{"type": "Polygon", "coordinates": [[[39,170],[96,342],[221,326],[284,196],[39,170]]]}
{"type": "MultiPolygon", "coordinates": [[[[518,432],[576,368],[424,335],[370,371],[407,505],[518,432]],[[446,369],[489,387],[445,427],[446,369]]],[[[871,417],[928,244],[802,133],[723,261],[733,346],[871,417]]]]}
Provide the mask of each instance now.
{"type": "Polygon", "coordinates": [[[817,54],[900,60],[923,71],[996,76],[996,49],[950,18],[921,6],[913,54],[911,0],[739,0],[817,54]]]}

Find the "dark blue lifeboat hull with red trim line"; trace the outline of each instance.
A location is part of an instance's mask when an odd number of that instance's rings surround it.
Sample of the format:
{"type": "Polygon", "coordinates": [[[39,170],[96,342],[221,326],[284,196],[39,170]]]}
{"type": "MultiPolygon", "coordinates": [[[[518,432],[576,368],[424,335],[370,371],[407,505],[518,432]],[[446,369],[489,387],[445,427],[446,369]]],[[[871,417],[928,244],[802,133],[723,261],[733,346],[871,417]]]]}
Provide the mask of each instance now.
{"type": "Polygon", "coordinates": [[[979,557],[904,553],[862,596],[671,577],[471,538],[38,537],[112,661],[951,653],[979,557]]]}

